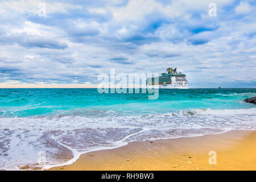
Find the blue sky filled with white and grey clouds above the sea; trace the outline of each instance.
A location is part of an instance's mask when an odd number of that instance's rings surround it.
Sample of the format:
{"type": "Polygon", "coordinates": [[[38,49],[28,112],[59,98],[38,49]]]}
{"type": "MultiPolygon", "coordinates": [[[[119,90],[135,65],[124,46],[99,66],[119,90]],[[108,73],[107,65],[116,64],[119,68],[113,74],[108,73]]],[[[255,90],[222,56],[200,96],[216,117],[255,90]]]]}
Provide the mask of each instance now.
{"type": "Polygon", "coordinates": [[[0,88],[94,88],[111,68],[168,67],[191,88],[256,88],[255,1],[9,0],[0,25],[0,88]]]}

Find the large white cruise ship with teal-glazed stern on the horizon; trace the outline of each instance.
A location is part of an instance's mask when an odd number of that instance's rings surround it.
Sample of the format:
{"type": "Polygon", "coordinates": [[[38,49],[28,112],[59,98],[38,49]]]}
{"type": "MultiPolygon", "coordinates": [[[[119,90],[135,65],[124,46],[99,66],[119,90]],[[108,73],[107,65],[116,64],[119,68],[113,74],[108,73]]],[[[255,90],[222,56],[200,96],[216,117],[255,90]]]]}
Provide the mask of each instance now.
{"type": "Polygon", "coordinates": [[[177,72],[177,68],[167,68],[161,76],[147,78],[147,87],[159,86],[159,89],[188,89],[186,75],[177,72]]]}

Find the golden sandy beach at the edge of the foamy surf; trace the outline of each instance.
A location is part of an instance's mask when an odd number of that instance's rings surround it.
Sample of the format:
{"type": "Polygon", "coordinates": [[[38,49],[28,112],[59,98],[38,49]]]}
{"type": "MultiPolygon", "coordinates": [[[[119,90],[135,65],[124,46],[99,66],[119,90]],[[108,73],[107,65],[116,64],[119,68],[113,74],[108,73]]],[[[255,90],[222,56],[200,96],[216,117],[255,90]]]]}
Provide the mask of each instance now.
{"type": "MultiPolygon", "coordinates": [[[[256,131],[132,142],[49,170],[256,170],[256,131]],[[209,164],[209,152],[217,164],[209,164]]],[[[214,162],[211,158],[211,162],[214,162]]]]}

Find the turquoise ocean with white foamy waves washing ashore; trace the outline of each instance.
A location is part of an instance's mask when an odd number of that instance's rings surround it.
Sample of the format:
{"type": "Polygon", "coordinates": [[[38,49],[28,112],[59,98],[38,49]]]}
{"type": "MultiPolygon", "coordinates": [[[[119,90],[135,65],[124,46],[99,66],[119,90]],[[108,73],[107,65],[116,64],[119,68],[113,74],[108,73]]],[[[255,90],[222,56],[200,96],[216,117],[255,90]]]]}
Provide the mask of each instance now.
{"type": "Polygon", "coordinates": [[[256,130],[256,89],[0,89],[0,169],[49,168],[133,141],[256,130]]]}

